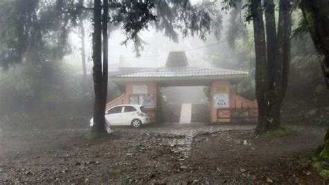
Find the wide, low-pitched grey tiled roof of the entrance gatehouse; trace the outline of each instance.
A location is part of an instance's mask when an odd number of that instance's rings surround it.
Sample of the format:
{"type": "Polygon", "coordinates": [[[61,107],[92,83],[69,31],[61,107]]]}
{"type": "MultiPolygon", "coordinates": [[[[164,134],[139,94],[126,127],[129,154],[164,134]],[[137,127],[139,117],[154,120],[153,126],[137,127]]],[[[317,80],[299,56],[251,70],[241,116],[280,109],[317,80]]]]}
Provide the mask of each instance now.
{"type": "Polygon", "coordinates": [[[121,74],[117,78],[138,78],[138,77],[207,77],[207,76],[244,76],[248,72],[237,70],[225,70],[219,68],[201,67],[160,67],[149,70],[142,70],[131,74],[121,74]]]}

